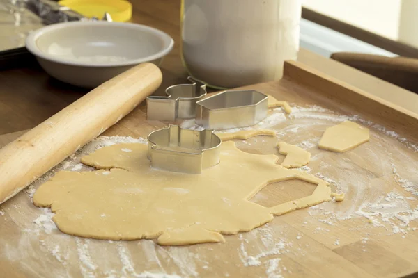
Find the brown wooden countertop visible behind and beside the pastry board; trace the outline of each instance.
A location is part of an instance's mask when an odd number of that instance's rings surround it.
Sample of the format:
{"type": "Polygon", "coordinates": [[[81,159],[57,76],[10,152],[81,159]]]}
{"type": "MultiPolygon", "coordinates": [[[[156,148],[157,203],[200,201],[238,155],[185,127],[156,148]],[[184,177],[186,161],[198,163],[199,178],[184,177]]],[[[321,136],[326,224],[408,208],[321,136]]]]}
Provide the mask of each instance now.
{"type": "MultiPolygon", "coordinates": [[[[159,28],[173,37],[175,47],[164,58],[164,80],[156,95],[165,88],[187,82],[180,60],[180,1],[135,0],[132,22],[159,28]]],[[[377,79],[369,74],[300,49],[300,62],[370,92],[398,106],[418,113],[418,95],[377,79]]],[[[31,129],[72,103],[87,90],[75,88],[49,77],[36,65],[0,72],[0,135],[31,129]]]]}

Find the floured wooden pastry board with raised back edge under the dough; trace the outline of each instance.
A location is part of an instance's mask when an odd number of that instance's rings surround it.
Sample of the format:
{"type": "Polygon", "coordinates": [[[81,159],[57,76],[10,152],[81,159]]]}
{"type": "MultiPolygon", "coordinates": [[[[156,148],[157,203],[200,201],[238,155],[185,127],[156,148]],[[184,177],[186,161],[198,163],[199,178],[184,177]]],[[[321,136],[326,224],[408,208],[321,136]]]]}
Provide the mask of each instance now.
{"type": "MultiPolygon", "coordinates": [[[[277,154],[277,142],[311,152],[302,170],[343,191],[226,243],[161,247],[153,240],[109,242],[62,234],[31,190],[0,206],[0,277],[401,277],[418,272],[418,115],[296,62],[284,79],[247,86],[288,101],[255,128],[276,138],[237,140],[245,152],[277,154]],[[323,131],[343,120],[371,129],[371,140],[343,154],[318,149],[323,131]],[[43,216],[42,216],[43,215],[43,216]],[[46,219],[46,220],[45,220],[46,219]],[[172,275],[172,276],[170,276],[172,275]]],[[[147,121],[141,106],[104,133],[146,138],[168,123],[147,121]]],[[[193,120],[178,122],[194,126],[193,120]]],[[[0,146],[19,136],[0,136],[0,146]]],[[[76,161],[77,162],[77,161],[76,161]]],[[[63,165],[61,165],[63,166],[63,165]]],[[[251,200],[273,206],[313,192],[304,181],[272,183],[251,200]]],[[[210,208],[208,208],[210,209],[210,208]]]]}

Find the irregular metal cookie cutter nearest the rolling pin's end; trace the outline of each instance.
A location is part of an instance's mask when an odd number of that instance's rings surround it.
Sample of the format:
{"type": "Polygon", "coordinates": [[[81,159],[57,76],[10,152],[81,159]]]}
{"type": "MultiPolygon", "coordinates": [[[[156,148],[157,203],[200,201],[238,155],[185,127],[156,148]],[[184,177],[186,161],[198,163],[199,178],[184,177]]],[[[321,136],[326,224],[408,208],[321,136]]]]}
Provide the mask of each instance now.
{"type": "Polygon", "coordinates": [[[173,85],[166,89],[167,97],[146,98],[148,120],[173,121],[177,118],[192,119],[196,113],[196,101],[206,96],[206,85],[188,77],[192,84],[173,85]]]}

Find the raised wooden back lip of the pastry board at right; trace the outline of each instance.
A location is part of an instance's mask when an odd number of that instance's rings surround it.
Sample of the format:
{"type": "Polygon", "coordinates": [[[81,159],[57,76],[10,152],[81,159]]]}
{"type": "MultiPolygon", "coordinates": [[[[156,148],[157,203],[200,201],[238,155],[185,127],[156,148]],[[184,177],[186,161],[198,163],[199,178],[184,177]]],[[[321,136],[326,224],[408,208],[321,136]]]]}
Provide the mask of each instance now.
{"type": "Polygon", "coordinates": [[[379,117],[389,123],[390,126],[387,127],[392,129],[395,127],[399,129],[402,126],[409,134],[414,129],[418,129],[418,115],[416,113],[300,62],[288,60],[284,63],[284,79],[314,88],[316,93],[337,103],[350,106],[354,111],[359,111],[367,116],[379,117]]]}

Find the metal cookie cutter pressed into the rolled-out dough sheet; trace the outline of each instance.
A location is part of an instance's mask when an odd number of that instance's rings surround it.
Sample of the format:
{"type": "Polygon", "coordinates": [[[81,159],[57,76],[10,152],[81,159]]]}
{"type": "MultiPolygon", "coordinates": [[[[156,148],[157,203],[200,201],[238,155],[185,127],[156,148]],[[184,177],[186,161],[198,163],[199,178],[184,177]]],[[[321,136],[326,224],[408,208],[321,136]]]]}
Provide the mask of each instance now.
{"type": "Polygon", "coordinates": [[[220,145],[221,139],[212,130],[170,124],[148,135],[148,159],[161,170],[200,174],[219,163],[220,145]]]}

